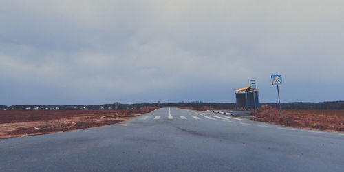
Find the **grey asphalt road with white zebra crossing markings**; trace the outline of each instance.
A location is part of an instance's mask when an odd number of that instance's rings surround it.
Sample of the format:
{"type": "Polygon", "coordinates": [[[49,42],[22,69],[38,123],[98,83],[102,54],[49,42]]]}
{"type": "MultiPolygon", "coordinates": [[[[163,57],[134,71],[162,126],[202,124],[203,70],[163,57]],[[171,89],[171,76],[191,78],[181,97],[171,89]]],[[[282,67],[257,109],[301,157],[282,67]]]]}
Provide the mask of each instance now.
{"type": "Polygon", "coordinates": [[[344,171],[344,135],[164,108],[118,125],[0,140],[0,171],[344,171]]]}

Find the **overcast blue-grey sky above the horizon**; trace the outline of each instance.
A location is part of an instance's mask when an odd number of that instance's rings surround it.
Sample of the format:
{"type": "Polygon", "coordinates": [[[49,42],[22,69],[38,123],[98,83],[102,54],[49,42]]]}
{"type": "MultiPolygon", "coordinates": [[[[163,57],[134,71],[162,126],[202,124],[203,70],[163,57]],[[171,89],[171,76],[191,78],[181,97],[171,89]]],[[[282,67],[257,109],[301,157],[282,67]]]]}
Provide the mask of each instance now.
{"type": "Polygon", "coordinates": [[[344,1],[0,1],[0,105],[344,100],[344,1]]]}

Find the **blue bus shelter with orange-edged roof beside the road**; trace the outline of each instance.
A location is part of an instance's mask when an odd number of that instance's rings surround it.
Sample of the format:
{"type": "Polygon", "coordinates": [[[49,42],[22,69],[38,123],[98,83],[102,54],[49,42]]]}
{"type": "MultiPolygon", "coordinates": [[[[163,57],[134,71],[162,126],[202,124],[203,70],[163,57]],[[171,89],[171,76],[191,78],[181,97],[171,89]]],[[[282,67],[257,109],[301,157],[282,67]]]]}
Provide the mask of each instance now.
{"type": "Polygon", "coordinates": [[[237,109],[254,109],[259,107],[259,89],[244,87],[235,91],[237,109]]]}

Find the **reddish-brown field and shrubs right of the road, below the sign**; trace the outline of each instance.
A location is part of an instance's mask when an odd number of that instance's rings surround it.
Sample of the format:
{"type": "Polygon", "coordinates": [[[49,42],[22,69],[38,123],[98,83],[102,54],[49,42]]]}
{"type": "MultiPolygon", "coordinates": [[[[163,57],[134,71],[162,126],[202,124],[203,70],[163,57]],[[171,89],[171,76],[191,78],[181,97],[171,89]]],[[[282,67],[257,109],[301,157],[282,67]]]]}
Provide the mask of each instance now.
{"type": "Polygon", "coordinates": [[[287,127],[344,132],[344,110],[283,110],[282,114],[281,117],[278,109],[262,106],[252,116],[256,121],[287,127]]]}

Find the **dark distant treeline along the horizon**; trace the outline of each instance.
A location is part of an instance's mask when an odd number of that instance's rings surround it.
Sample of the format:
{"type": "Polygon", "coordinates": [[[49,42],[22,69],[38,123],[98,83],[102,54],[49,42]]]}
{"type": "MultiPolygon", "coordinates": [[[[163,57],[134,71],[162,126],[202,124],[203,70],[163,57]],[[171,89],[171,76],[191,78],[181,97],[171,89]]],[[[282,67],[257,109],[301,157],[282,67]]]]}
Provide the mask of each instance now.
{"type": "MultiPolygon", "coordinates": [[[[142,107],[209,107],[211,109],[235,109],[235,103],[204,103],[200,101],[193,102],[180,102],[180,103],[136,103],[136,104],[122,104],[112,103],[105,105],[13,105],[5,106],[0,105],[0,110],[47,110],[47,109],[59,109],[59,110],[80,110],[80,109],[140,109],[142,107]],[[58,108],[56,108],[58,107],[58,108]]],[[[261,105],[269,105],[271,107],[278,107],[277,103],[261,103],[261,105]]],[[[282,109],[344,109],[344,101],[335,102],[321,102],[321,103],[282,103],[282,109]]]]}

